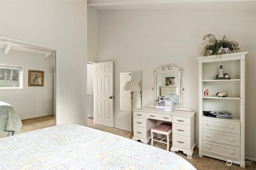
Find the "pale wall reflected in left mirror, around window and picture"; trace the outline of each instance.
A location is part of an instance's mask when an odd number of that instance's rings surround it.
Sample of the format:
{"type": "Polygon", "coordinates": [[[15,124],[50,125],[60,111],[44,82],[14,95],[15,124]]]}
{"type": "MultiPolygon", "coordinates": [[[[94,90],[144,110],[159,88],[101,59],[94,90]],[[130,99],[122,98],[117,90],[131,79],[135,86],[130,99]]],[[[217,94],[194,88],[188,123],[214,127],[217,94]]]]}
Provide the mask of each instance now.
{"type": "Polygon", "coordinates": [[[20,119],[40,117],[54,113],[53,74],[54,55],[43,59],[42,55],[20,51],[0,51],[2,63],[24,64],[24,89],[0,90],[0,101],[12,105],[20,119]],[[28,70],[44,71],[44,86],[28,86],[28,70]]]}

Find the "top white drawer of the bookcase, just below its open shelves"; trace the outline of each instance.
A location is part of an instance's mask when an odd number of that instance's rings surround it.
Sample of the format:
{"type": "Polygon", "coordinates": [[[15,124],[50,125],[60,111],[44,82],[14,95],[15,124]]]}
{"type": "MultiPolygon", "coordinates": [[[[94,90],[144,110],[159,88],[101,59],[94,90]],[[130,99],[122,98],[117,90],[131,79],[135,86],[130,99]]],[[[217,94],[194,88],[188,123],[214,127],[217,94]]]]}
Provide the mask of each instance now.
{"type": "Polygon", "coordinates": [[[240,135],[240,122],[203,118],[203,129],[235,133],[240,135]]]}

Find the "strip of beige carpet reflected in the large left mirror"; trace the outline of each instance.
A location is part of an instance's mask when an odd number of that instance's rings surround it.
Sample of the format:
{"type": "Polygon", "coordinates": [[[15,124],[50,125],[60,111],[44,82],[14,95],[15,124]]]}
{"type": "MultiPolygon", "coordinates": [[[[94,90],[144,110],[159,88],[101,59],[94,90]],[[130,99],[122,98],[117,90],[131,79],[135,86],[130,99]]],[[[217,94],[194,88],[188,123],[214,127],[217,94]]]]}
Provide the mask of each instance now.
{"type": "Polygon", "coordinates": [[[22,128],[19,133],[34,131],[56,125],[55,115],[48,115],[42,117],[35,117],[31,119],[24,119],[22,121],[22,128]]]}

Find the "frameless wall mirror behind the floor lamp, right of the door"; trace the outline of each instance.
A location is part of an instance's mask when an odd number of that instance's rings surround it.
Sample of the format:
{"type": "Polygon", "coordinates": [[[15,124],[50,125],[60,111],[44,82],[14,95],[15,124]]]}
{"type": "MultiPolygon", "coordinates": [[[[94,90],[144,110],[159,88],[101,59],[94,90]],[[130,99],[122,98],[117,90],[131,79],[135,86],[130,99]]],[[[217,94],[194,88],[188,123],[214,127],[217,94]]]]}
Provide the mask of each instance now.
{"type": "Polygon", "coordinates": [[[120,111],[131,111],[131,94],[130,91],[124,90],[127,81],[136,81],[140,87],[140,91],[134,91],[133,108],[142,106],[141,87],[142,87],[142,71],[120,72],[120,111]]]}

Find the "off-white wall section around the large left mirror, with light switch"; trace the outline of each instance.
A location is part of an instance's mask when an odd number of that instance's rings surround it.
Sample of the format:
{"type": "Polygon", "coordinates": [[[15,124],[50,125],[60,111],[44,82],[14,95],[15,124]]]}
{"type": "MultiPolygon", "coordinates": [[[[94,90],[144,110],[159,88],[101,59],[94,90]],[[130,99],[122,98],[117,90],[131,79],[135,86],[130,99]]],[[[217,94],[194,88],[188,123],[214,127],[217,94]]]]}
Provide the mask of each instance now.
{"type": "Polygon", "coordinates": [[[57,48],[56,123],[86,125],[86,0],[1,0],[0,35],[57,48]]]}

